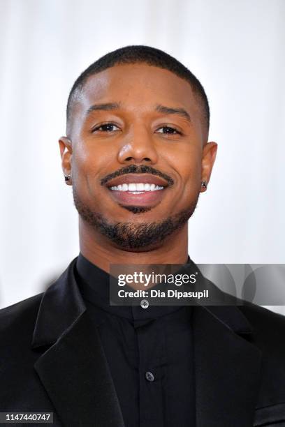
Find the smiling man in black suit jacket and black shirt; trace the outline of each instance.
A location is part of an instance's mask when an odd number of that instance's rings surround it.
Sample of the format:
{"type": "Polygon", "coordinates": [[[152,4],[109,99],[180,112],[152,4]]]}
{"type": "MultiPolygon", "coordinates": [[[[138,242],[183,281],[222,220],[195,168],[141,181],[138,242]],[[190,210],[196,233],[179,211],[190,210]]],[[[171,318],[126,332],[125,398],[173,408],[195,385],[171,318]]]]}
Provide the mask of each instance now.
{"type": "Polygon", "coordinates": [[[182,264],[210,181],[207,96],[173,57],[106,54],[71,89],[62,169],[80,254],[1,310],[1,412],[56,426],[285,426],[285,320],[242,306],[111,306],[110,264],[182,264]]]}

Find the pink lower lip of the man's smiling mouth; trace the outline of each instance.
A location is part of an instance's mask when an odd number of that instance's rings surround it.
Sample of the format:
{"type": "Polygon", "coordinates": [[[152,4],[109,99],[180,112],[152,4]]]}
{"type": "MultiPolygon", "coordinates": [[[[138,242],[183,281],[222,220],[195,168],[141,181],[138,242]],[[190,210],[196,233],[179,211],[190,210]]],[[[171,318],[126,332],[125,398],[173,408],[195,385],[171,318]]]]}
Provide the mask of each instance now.
{"type": "Polygon", "coordinates": [[[145,191],[145,193],[133,194],[129,191],[109,190],[115,202],[126,206],[155,206],[161,202],[166,188],[163,190],[145,191]]]}

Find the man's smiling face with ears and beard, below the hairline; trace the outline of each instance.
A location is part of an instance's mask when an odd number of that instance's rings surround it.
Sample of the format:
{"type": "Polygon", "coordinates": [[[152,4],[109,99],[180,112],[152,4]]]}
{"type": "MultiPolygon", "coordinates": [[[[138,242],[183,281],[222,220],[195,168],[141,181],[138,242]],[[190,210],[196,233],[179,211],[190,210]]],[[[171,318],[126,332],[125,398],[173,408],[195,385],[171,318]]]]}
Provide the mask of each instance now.
{"type": "Polygon", "coordinates": [[[187,223],[217,150],[205,144],[203,111],[190,84],[142,63],[89,77],[68,134],[61,156],[75,207],[130,250],[155,246],[187,223]]]}

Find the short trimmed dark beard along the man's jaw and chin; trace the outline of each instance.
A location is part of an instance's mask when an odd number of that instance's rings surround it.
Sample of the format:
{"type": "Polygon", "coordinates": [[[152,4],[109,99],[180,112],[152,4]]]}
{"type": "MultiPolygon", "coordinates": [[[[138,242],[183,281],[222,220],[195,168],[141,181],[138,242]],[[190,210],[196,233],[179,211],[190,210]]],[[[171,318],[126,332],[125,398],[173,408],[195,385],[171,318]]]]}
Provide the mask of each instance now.
{"type": "MultiPolygon", "coordinates": [[[[101,213],[93,211],[87,206],[78,195],[78,192],[73,184],[73,201],[82,220],[85,221],[94,231],[100,232],[104,237],[107,237],[113,244],[123,250],[147,250],[159,246],[161,242],[182,226],[187,223],[193,215],[198,203],[200,191],[197,193],[195,200],[189,204],[187,209],[183,209],[173,216],[150,223],[111,223],[104,218],[101,213]]],[[[133,213],[142,213],[149,211],[152,208],[146,207],[124,207],[133,213]]]]}

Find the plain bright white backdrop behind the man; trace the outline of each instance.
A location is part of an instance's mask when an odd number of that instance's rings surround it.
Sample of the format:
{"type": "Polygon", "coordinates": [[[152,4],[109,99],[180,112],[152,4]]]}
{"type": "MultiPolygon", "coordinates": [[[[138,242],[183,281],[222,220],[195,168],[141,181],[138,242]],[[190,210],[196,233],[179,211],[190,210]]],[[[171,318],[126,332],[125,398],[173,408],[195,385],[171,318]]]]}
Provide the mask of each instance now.
{"type": "Polygon", "coordinates": [[[41,292],[78,255],[57,142],[68,91],[130,44],[173,54],[210,99],[219,149],[189,221],[191,258],[285,263],[284,17],[284,0],[0,0],[0,306],[41,292]]]}

